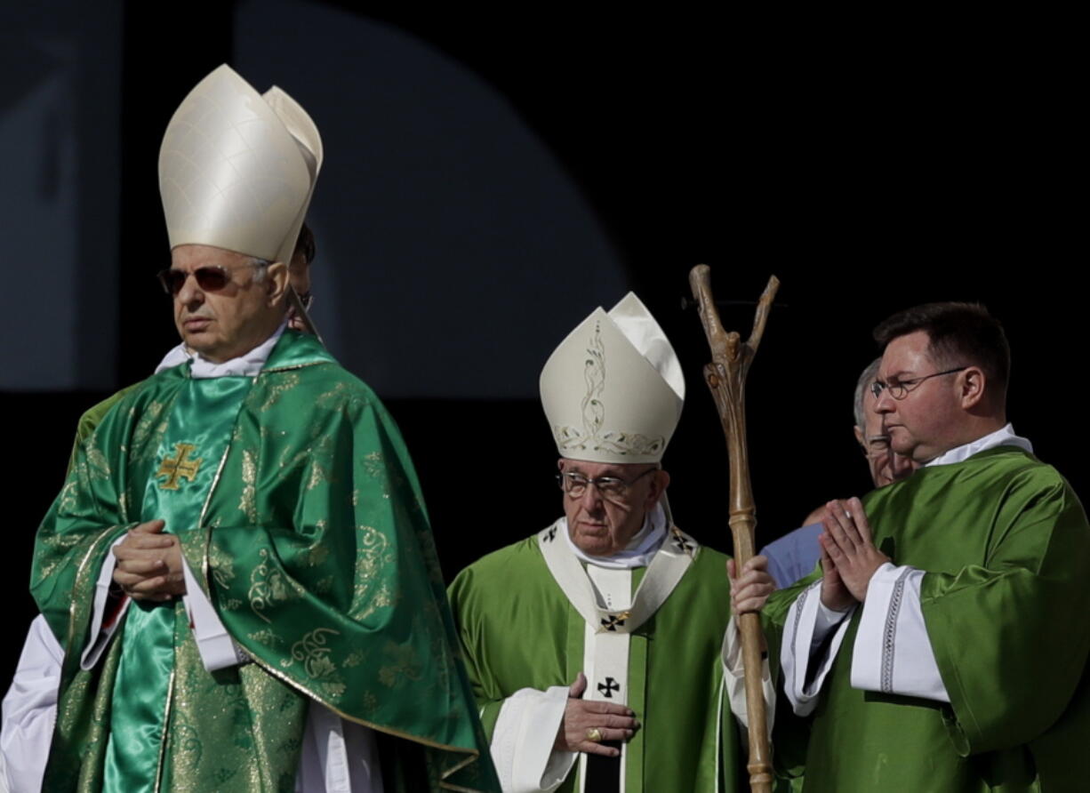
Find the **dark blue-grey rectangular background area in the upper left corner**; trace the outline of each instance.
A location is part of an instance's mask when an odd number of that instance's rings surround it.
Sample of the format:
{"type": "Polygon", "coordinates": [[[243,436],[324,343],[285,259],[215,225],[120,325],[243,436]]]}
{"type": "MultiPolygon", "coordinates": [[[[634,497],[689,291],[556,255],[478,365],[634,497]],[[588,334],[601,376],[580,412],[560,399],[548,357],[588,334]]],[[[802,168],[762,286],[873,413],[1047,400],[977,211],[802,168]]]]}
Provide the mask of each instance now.
{"type": "Polygon", "coordinates": [[[0,9],[0,391],[108,389],[121,0],[0,9]]]}

